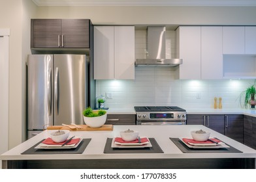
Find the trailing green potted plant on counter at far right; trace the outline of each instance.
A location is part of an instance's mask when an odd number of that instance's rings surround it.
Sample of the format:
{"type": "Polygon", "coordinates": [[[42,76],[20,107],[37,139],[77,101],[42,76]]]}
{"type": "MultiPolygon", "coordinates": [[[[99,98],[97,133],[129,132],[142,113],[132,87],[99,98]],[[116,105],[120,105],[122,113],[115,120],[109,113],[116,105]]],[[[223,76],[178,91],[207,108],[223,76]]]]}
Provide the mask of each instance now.
{"type": "Polygon", "coordinates": [[[255,83],[254,83],[253,85],[246,88],[246,90],[244,90],[240,94],[241,106],[247,109],[248,105],[251,105],[251,109],[255,109],[255,105],[256,105],[255,94],[256,94],[256,88],[255,88],[255,83]],[[244,103],[242,105],[241,99],[243,99],[243,98],[244,98],[244,103]]]}

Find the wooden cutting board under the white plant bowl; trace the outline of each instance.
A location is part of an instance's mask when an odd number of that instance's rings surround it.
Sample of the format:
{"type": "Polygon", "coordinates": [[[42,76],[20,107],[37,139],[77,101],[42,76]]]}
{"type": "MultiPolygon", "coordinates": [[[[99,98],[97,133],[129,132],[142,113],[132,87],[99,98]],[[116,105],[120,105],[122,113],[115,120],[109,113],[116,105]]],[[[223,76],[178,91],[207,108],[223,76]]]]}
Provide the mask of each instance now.
{"type": "Polygon", "coordinates": [[[103,125],[102,127],[89,127],[88,125],[79,125],[82,128],[81,129],[71,129],[65,125],[51,125],[47,127],[48,130],[54,130],[54,129],[67,129],[69,131],[112,131],[113,125],[103,125]]]}

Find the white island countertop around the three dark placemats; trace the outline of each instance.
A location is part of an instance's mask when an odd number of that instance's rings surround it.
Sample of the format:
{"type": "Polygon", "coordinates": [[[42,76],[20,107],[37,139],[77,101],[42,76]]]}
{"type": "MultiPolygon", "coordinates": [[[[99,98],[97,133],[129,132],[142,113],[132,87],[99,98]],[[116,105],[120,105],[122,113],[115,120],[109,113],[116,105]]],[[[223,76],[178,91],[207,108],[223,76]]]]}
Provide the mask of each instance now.
{"type": "MultiPolygon", "coordinates": [[[[61,155],[21,155],[23,151],[31,146],[40,142],[40,140],[47,138],[47,131],[40,133],[37,136],[25,141],[24,143],[10,149],[6,153],[1,155],[3,160],[3,168],[7,168],[8,162],[12,161],[69,161],[69,160],[143,160],[143,159],[155,159],[155,160],[168,160],[168,159],[253,159],[256,158],[256,150],[251,149],[244,144],[236,142],[231,138],[221,135],[212,129],[204,127],[202,125],[114,125],[113,131],[73,131],[71,136],[81,136],[82,138],[91,138],[87,148],[82,154],[61,154],[61,155]],[[103,153],[104,146],[106,144],[106,138],[113,138],[120,136],[120,131],[126,129],[133,129],[140,133],[140,136],[147,136],[148,138],[155,138],[164,153],[103,153]],[[243,153],[182,153],[179,148],[169,139],[178,137],[189,137],[190,131],[203,129],[204,131],[210,131],[211,137],[219,138],[223,142],[233,146],[234,148],[243,151],[243,153]]],[[[125,161],[124,161],[125,162],[125,161]]],[[[208,161],[209,162],[209,161],[208,161]]],[[[253,164],[254,166],[254,164],[253,164]]],[[[109,167],[109,166],[108,166],[109,167]]],[[[146,166],[143,166],[146,167],[146,166]]],[[[255,166],[254,166],[255,167],[255,166]]],[[[254,168],[253,167],[253,168],[254,168]]],[[[170,168],[170,166],[168,166],[170,168]]]]}

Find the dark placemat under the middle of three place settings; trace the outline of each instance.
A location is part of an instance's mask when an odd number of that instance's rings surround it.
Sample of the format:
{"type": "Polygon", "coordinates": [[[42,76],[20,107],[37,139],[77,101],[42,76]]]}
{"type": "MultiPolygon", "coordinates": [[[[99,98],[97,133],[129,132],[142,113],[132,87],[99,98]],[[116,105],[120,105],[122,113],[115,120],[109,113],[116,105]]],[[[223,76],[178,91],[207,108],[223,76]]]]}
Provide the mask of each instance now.
{"type": "Polygon", "coordinates": [[[155,138],[148,138],[152,147],[150,148],[112,148],[112,139],[107,138],[104,148],[104,153],[163,153],[163,150],[160,148],[159,144],[155,138]]]}

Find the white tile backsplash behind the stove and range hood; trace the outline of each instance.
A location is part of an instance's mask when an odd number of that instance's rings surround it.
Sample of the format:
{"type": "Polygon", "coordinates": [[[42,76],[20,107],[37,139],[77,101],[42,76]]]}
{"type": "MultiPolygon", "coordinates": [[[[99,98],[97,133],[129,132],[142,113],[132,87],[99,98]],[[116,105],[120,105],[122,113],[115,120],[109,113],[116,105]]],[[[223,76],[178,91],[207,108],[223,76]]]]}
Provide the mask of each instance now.
{"type": "MultiPolygon", "coordinates": [[[[146,31],[136,31],[136,58],[146,58],[146,31]]],[[[175,57],[175,32],[167,31],[167,49],[175,57]]],[[[168,54],[168,53],[167,53],[168,54]]],[[[239,108],[240,93],[254,80],[177,80],[174,68],[136,67],[135,80],[97,80],[97,96],[112,93],[105,107],[176,105],[214,108],[214,97],[221,97],[223,108],[239,108]]]]}

